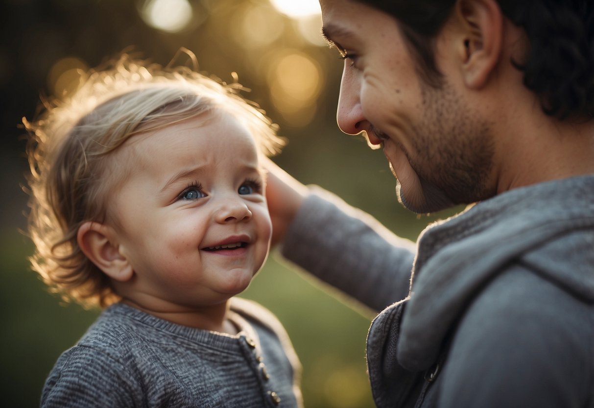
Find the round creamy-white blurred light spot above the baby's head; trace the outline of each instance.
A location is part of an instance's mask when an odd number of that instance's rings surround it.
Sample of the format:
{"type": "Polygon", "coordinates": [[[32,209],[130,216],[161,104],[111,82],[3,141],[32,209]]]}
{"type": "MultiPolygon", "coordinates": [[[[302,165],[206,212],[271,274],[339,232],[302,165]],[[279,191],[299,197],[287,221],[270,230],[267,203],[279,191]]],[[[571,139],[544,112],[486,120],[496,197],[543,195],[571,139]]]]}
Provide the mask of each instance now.
{"type": "Polygon", "coordinates": [[[192,21],[192,6],[188,0],[147,0],[141,16],[149,26],[176,33],[192,21]]]}

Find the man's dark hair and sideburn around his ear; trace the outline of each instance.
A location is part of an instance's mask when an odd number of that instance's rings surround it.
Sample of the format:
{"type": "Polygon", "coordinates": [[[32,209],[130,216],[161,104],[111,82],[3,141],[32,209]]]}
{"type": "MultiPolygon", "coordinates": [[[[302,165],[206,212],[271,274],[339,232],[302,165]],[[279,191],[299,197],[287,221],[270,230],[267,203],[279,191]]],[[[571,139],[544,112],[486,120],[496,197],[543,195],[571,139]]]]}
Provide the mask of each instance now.
{"type": "MultiPolygon", "coordinates": [[[[442,80],[434,39],[456,0],[358,0],[393,15],[432,86],[442,80]]],[[[501,11],[526,33],[524,84],[538,95],[544,112],[558,118],[594,118],[594,1],[497,0],[501,11]]]]}

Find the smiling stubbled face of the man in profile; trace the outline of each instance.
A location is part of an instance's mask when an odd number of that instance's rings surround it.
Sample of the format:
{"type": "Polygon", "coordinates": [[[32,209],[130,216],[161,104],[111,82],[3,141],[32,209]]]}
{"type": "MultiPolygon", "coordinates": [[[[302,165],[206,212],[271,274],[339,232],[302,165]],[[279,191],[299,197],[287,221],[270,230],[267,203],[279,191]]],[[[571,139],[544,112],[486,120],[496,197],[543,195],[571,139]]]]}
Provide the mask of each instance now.
{"type": "Polygon", "coordinates": [[[351,0],[320,0],[324,34],[345,58],[337,120],[345,133],[365,131],[383,146],[399,198],[425,213],[491,196],[491,130],[468,106],[449,64],[447,36],[436,61],[444,74],[429,86],[400,32],[384,12],[351,0]],[[445,55],[445,57],[444,57],[445,55]]]}

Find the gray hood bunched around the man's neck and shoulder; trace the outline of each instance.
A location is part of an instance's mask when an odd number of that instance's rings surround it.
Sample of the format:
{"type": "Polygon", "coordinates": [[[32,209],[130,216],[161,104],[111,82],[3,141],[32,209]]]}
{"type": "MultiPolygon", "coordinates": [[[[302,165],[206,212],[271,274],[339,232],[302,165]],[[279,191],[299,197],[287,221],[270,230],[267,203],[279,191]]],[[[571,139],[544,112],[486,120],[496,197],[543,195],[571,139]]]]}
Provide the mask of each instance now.
{"type": "Polygon", "coordinates": [[[594,303],[594,176],[510,190],[426,228],[410,296],[375,319],[368,351],[383,338],[384,369],[428,369],[468,303],[513,261],[594,303]]]}

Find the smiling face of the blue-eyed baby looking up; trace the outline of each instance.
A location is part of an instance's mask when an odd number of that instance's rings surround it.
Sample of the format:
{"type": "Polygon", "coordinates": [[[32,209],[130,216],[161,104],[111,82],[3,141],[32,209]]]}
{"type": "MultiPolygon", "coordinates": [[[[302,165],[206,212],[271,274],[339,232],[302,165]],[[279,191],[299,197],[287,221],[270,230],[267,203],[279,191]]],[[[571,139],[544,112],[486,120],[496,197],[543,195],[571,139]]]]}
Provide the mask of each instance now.
{"type": "MultiPolygon", "coordinates": [[[[144,309],[216,305],[248,287],[268,253],[271,222],[257,146],[215,112],[140,134],[131,177],[113,194],[120,252],[144,309]]],[[[179,309],[175,309],[179,310],[179,309]]]]}

